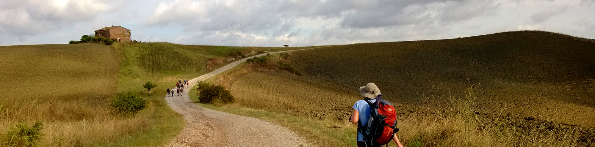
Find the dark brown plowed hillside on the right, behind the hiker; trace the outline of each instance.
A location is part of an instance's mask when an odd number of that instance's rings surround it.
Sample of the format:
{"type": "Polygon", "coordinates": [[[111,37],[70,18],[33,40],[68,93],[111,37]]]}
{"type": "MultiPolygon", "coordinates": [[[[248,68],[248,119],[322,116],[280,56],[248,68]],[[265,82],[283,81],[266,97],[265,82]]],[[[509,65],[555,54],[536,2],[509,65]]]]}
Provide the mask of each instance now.
{"type": "Polygon", "coordinates": [[[375,82],[384,98],[446,102],[481,84],[476,109],[595,126],[595,43],[536,32],[364,43],[296,52],[300,72],[356,91],[375,82]]]}

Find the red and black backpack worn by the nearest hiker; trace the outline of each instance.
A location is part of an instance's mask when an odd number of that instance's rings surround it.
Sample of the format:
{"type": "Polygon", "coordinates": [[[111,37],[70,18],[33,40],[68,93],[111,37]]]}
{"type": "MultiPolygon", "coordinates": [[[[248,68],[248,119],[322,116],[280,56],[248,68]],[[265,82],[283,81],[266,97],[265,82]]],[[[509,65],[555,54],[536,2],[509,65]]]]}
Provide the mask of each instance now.
{"type": "Polygon", "coordinates": [[[365,99],[371,110],[368,123],[365,126],[360,123],[358,132],[364,135],[367,146],[386,145],[393,139],[394,133],[399,131],[396,129],[397,113],[389,101],[381,100],[380,97],[374,103],[370,100],[365,99]]]}

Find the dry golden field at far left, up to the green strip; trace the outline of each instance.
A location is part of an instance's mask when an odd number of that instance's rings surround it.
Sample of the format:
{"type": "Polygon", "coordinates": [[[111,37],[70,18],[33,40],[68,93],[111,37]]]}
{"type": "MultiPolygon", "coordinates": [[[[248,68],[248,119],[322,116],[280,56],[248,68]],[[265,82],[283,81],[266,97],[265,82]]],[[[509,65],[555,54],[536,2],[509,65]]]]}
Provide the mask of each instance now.
{"type": "Polygon", "coordinates": [[[43,123],[40,146],[89,145],[143,127],[137,119],[111,117],[108,101],[116,91],[119,66],[112,47],[0,46],[0,63],[3,141],[18,123],[43,123]]]}

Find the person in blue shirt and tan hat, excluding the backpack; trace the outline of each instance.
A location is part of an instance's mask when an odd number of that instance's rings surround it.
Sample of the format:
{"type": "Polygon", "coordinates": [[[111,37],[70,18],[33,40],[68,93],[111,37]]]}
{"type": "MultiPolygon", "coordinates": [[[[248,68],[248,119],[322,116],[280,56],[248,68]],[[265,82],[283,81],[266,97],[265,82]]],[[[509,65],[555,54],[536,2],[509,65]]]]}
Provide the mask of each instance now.
{"type": "MultiPolygon", "coordinates": [[[[365,100],[359,100],[359,101],[356,101],[355,104],[353,104],[353,107],[352,107],[353,113],[352,113],[351,117],[349,117],[349,122],[351,122],[353,124],[358,124],[358,138],[357,138],[358,147],[382,146],[382,145],[371,146],[369,143],[365,142],[364,134],[362,134],[359,130],[360,127],[366,127],[366,126],[363,126],[362,124],[368,124],[368,117],[370,117],[370,114],[371,114],[371,107],[367,101],[370,101],[372,104],[377,104],[377,103],[375,103],[377,98],[380,98],[382,96],[382,94],[380,94],[380,89],[378,89],[376,84],[368,83],[368,84],[366,84],[365,87],[359,88],[359,94],[362,95],[362,97],[364,97],[365,100]]],[[[390,111],[393,111],[393,110],[390,110],[390,111]]],[[[396,143],[399,147],[403,147],[403,145],[399,141],[399,138],[397,138],[397,135],[393,134],[392,136],[393,136],[394,143],[396,143]]],[[[368,140],[368,142],[369,142],[369,139],[366,139],[366,140],[368,140]]]]}

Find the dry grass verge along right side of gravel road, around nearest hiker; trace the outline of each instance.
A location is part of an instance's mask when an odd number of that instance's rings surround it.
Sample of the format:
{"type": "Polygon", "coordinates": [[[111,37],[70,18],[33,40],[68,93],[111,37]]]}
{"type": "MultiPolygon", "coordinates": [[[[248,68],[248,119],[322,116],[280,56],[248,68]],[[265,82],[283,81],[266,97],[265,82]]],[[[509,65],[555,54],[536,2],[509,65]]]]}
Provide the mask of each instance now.
{"type": "MultiPolygon", "coordinates": [[[[472,108],[475,98],[478,97],[478,85],[470,85],[467,90],[443,97],[452,101],[450,108],[444,113],[437,103],[430,101],[422,107],[415,108],[411,113],[407,108],[397,104],[400,110],[397,133],[400,141],[405,146],[581,146],[577,142],[577,133],[566,131],[550,133],[544,136],[533,132],[525,138],[527,142],[514,143],[515,136],[503,134],[505,126],[482,126],[480,116],[472,108]]],[[[231,104],[199,104],[198,90],[192,88],[190,97],[198,105],[218,111],[256,117],[267,120],[290,130],[298,132],[308,140],[322,146],[357,146],[356,126],[347,120],[320,119],[305,117],[284,110],[261,110],[243,106],[242,103],[231,104]]],[[[266,103],[266,102],[264,102],[266,103]]],[[[409,109],[411,110],[411,109],[409,109]]],[[[510,120],[497,120],[494,123],[505,123],[510,120]]],[[[396,146],[394,142],[389,146],[396,146]]]]}

